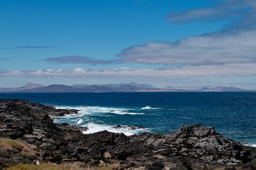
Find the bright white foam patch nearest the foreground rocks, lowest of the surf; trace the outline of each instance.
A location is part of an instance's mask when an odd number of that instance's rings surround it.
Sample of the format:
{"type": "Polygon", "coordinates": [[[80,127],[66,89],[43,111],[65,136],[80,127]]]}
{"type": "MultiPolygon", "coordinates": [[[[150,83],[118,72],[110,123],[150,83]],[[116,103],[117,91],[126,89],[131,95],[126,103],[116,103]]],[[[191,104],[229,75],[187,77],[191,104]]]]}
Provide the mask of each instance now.
{"type": "Polygon", "coordinates": [[[147,128],[137,128],[135,130],[131,130],[130,128],[114,128],[110,125],[98,125],[94,123],[88,123],[84,126],[88,128],[88,130],[83,132],[84,134],[90,134],[94,132],[101,132],[107,130],[108,132],[124,133],[126,136],[132,136],[140,132],[148,132],[147,128]]]}

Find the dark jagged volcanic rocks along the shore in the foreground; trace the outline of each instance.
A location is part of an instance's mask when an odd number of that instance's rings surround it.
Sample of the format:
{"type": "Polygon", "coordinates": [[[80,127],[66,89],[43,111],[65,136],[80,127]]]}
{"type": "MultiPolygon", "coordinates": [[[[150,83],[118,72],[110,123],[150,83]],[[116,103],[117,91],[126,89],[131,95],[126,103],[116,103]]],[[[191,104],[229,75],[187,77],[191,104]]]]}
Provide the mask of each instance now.
{"type": "Polygon", "coordinates": [[[20,99],[0,100],[0,169],[18,163],[77,161],[90,166],[118,162],[119,169],[256,169],[256,148],[226,139],[214,128],[189,125],[163,135],[84,135],[81,128],[54,124],[49,117],[76,112],[20,99]]]}

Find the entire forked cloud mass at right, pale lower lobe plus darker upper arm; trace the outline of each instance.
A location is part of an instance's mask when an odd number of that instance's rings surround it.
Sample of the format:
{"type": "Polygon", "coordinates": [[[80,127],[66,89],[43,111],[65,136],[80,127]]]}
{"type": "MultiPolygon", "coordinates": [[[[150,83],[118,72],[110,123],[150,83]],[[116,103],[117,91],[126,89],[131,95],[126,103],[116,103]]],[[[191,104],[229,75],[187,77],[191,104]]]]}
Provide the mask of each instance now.
{"type": "MultiPolygon", "coordinates": [[[[125,63],[218,65],[256,63],[256,1],[223,0],[212,8],[170,13],[172,22],[240,18],[225,29],[178,42],[133,45],[118,54],[125,63]],[[239,17],[238,17],[239,16],[239,17]]],[[[235,68],[234,68],[235,69],[235,68]]]]}

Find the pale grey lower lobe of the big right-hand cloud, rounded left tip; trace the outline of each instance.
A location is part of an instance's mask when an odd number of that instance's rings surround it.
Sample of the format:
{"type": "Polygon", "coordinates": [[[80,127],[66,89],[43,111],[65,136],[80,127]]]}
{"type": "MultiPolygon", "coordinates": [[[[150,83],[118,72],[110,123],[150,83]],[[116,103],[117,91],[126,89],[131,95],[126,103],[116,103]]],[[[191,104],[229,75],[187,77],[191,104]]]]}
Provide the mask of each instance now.
{"type": "Polygon", "coordinates": [[[135,45],[124,49],[119,57],[126,63],[213,64],[256,63],[255,54],[256,31],[246,31],[135,45]]]}

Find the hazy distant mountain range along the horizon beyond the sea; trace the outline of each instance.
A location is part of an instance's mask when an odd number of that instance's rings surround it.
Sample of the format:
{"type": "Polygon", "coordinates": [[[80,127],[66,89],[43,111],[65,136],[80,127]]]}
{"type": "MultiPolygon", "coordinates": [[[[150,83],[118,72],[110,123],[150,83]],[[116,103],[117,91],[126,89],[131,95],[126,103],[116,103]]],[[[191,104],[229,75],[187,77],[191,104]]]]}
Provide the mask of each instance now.
{"type": "Polygon", "coordinates": [[[0,88],[0,92],[252,92],[252,90],[237,87],[211,87],[211,88],[156,88],[148,84],[135,82],[108,84],[108,85],[39,85],[31,84],[18,88],[0,88]]]}

